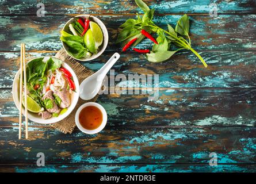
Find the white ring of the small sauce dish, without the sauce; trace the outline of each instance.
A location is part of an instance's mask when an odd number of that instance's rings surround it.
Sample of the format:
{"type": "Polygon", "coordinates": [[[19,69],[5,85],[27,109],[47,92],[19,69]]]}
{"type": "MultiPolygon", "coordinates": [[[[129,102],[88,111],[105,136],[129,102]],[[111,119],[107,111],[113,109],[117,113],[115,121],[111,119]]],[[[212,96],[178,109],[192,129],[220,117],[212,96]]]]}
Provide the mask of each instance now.
{"type": "Polygon", "coordinates": [[[106,114],[106,110],[100,104],[97,104],[95,102],[87,102],[87,103],[81,105],[80,108],[78,108],[77,113],[75,113],[75,124],[77,124],[77,127],[79,128],[80,131],[82,131],[83,133],[87,133],[87,134],[94,134],[94,133],[98,133],[98,132],[102,131],[102,129],[104,129],[104,127],[106,126],[107,120],[108,120],[108,115],[106,114]],[[102,123],[101,123],[100,127],[96,128],[94,130],[88,130],[86,128],[83,128],[79,121],[79,114],[80,114],[81,110],[87,106],[95,106],[96,108],[100,109],[101,113],[102,113],[102,123]]]}

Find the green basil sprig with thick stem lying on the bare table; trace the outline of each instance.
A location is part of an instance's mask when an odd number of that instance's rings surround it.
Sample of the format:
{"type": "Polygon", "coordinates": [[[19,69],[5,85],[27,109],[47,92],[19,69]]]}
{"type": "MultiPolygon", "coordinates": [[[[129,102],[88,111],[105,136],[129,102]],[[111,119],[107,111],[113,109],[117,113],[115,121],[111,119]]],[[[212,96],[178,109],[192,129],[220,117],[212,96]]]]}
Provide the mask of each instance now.
{"type": "Polygon", "coordinates": [[[137,6],[144,11],[143,16],[137,13],[137,19],[128,19],[124,24],[120,26],[121,31],[117,37],[116,43],[127,44],[132,39],[137,38],[137,40],[132,44],[139,44],[145,36],[140,32],[142,29],[146,30],[148,33],[157,33],[158,37],[156,41],[158,44],[154,44],[152,51],[146,54],[147,60],[154,63],[163,62],[169,59],[175,52],[181,49],[188,49],[192,51],[207,67],[204,59],[191,47],[191,40],[189,37],[189,17],[184,14],[175,26],[175,29],[167,24],[168,30],[162,29],[155,25],[152,21],[155,9],[150,9],[146,3],[142,0],[135,0],[137,6]],[[170,51],[170,45],[174,44],[179,47],[176,51],[170,51]]]}

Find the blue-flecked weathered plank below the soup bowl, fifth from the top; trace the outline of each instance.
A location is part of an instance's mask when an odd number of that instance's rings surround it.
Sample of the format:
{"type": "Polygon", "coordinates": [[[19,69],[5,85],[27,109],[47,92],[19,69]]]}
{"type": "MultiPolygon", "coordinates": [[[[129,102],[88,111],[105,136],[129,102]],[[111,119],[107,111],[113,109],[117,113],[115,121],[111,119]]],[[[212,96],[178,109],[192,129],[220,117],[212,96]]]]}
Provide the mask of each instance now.
{"type": "Polygon", "coordinates": [[[18,140],[18,127],[0,128],[0,163],[45,164],[208,164],[215,152],[219,164],[256,163],[256,127],[110,127],[97,135],[75,131],[64,135],[51,128],[29,129],[18,140]]]}

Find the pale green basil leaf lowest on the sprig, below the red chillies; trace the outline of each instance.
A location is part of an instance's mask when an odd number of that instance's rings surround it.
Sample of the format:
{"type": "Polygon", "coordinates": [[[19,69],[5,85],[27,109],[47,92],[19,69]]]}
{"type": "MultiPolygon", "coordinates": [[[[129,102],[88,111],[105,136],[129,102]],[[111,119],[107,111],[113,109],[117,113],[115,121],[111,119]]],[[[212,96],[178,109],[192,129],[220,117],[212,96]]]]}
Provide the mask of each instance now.
{"type": "Polygon", "coordinates": [[[152,63],[160,63],[169,59],[172,55],[174,55],[176,51],[158,51],[147,53],[146,57],[149,62],[152,63]]]}

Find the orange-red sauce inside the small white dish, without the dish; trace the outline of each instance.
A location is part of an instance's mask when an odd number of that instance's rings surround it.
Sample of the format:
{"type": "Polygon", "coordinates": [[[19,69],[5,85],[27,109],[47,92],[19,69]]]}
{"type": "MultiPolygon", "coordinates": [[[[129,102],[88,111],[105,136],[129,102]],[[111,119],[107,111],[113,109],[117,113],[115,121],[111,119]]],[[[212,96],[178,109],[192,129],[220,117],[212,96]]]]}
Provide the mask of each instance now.
{"type": "Polygon", "coordinates": [[[83,128],[94,130],[100,127],[103,120],[102,112],[95,106],[87,106],[79,113],[79,122],[83,128]]]}

